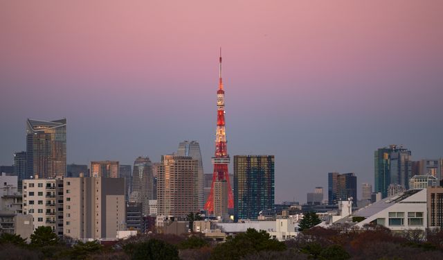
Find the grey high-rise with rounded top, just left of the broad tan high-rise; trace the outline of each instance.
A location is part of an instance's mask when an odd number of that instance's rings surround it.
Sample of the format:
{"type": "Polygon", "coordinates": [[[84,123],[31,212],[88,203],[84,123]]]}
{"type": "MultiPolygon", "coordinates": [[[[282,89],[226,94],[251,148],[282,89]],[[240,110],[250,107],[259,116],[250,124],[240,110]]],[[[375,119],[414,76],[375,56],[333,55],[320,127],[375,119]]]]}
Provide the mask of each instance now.
{"type": "Polygon", "coordinates": [[[143,215],[149,215],[149,200],[154,198],[154,176],[149,157],[138,157],[132,173],[132,191],[138,193],[138,203],[143,205],[143,215]]]}

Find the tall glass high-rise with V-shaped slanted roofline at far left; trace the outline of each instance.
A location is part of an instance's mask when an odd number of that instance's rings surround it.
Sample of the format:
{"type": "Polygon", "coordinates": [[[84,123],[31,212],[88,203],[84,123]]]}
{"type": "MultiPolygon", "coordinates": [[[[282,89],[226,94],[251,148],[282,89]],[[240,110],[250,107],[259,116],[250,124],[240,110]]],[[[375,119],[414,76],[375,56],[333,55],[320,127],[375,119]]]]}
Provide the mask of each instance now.
{"type": "Polygon", "coordinates": [[[66,175],[66,119],[26,121],[26,178],[66,175]]]}

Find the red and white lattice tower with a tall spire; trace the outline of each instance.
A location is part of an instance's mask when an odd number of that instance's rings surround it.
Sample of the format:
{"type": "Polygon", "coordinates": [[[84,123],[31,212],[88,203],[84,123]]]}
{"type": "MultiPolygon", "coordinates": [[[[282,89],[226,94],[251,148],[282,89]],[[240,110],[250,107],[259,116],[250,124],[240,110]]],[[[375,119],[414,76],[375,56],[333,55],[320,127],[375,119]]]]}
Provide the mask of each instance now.
{"type": "Polygon", "coordinates": [[[214,182],[219,180],[226,180],[228,186],[228,208],[233,209],[233,190],[230,187],[228,164],[229,155],[226,148],[226,132],[224,128],[224,90],[223,81],[221,80],[221,48],[219,58],[219,89],[217,90],[217,132],[215,132],[215,156],[213,157],[214,173],[213,183],[210,187],[208,200],[205,204],[205,209],[208,214],[214,212],[214,182]]]}

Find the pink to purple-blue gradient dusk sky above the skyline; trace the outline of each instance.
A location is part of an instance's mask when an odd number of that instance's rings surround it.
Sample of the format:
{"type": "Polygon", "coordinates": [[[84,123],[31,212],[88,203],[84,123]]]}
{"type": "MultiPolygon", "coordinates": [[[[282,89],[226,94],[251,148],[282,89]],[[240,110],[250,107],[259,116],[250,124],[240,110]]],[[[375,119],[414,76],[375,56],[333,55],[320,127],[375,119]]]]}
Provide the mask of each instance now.
{"type": "MultiPolygon", "coordinates": [[[[442,1],[1,1],[0,164],[25,121],[68,120],[68,162],[179,141],[214,151],[223,48],[228,152],[275,155],[276,201],[373,151],[443,156],[442,1]]],[[[359,190],[359,196],[361,191],[359,190]]],[[[326,196],[325,196],[326,198],[326,196]]]]}

